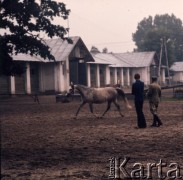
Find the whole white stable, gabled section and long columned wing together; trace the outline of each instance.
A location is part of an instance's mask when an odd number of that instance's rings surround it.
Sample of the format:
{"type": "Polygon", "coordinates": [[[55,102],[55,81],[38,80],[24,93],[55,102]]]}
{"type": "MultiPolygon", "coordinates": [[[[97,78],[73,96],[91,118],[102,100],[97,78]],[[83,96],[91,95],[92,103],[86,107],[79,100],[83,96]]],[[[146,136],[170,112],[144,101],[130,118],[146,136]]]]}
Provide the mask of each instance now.
{"type": "MultiPolygon", "coordinates": [[[[89,52],[80,37],[71,39],[72,44],[62,39],[46,40],[55,61],[28,54],[14,55],[14,61],[26,66],[26,73],[0,76],[0,94],[62,93],[69,91],[71,82],[90,87],[117,83],[131,86],[135,73],[148,85],[150,77],[155,75],[155,52],[89,52]]],[[[163,81],[164,74],[162,69],[163,81]]]]}

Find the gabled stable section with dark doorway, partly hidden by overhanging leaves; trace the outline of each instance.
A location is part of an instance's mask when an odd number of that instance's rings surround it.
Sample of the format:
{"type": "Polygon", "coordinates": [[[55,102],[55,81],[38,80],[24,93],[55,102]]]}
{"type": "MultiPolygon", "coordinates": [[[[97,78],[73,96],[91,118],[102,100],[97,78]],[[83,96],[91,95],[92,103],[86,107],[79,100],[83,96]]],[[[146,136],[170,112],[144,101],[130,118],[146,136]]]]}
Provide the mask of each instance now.
{"type": "Polygon", "coordinates": [[[72,44],[60,38],[45,40],[55,61],[29,54],[14,55],[14,61],[26,66],[26,73],[21,76],[0,76],[0,94],[54,94],[68,91],[71,81],[86,84],[85,66],[87,61],[94,59],[80,37],[71,39],[72,44]]]}

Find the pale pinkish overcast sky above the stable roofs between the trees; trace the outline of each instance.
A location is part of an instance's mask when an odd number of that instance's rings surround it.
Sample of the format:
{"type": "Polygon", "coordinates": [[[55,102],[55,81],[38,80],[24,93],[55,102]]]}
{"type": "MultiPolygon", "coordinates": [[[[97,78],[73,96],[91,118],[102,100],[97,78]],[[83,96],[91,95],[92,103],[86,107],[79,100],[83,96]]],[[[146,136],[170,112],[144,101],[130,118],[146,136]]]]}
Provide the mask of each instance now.
{"type": "Polygon", "coordinates": [[[174,14],[183,22],[183,0],[57,0],[71,10],[69,20],[57,23],[70,28],[69,36],[80,36],[88,50],[132,52],[132,34],[149,16],[174,14]]]}

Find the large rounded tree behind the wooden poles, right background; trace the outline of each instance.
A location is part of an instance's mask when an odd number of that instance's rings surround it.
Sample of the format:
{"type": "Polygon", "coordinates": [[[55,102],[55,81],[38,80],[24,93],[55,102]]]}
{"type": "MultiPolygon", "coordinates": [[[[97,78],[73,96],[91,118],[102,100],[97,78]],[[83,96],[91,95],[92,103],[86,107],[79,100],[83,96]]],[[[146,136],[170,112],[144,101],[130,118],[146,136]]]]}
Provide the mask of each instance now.
{"type": "MultiPolygon", "coordinates": [[[[183,61],[183,24],[173,14],[156,15],[144,18],[132,35],[136,43],[136,51],[156,51],[160,57],[161,44],[166,43],[169,65],[175,61],[183,61]]],[[[165,48],[163,48],[164,50],[165,48]]],[[[166,64],[165,51],[162,64],[166,64]]]]}

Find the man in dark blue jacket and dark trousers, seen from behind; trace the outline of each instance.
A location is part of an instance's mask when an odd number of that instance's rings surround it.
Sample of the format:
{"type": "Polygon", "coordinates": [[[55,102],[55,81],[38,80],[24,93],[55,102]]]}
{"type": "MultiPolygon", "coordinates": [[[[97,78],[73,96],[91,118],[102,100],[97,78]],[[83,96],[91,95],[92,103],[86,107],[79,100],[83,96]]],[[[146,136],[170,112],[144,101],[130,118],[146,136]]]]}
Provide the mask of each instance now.
{"type": "Polygon", "coordinates": [[[144,83],[140,81],[139,74],[135,74],[134,79],[136,81],[132,85],[132,94],[135,96],[134,103],[137,113],[137,125],[138,128],[146,128],[146,120],[142,111],[144,103],[144,83]]]}

